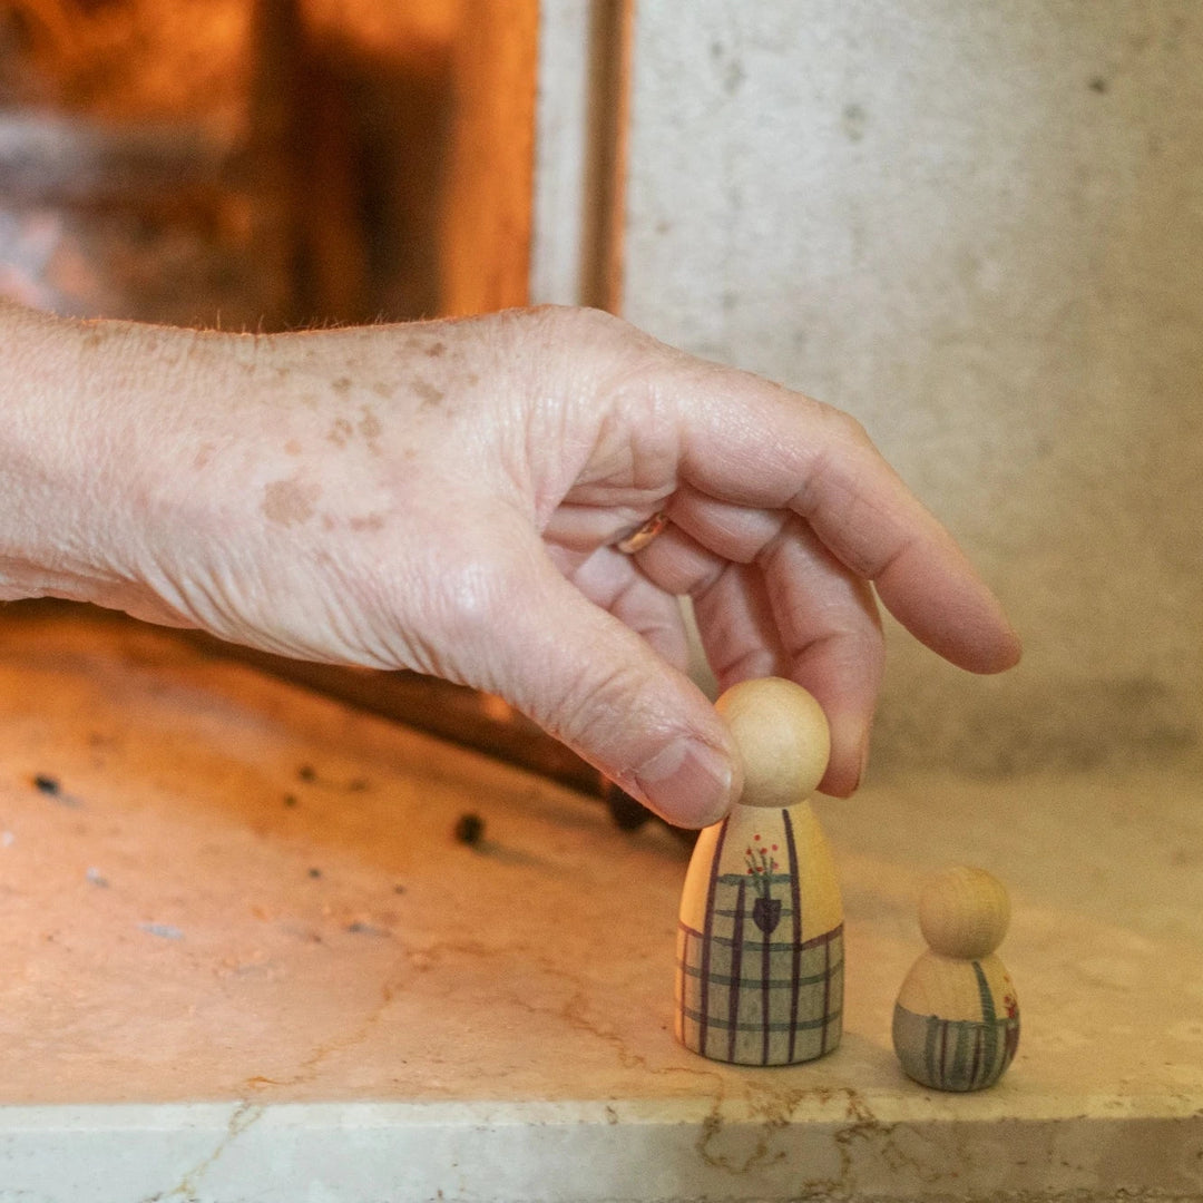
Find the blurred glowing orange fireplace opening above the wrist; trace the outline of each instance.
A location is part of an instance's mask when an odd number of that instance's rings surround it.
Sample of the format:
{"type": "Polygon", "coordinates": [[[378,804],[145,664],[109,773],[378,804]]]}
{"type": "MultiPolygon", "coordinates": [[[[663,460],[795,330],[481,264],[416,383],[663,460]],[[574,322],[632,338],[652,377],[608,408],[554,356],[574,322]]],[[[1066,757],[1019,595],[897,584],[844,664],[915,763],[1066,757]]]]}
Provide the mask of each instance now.
{"type": "MultiPolygon", "coordinates": [[[[231,330],[487,307],[492,262],[472,298],[456,277],[529,209],[537,24],[533,0],[2,0],[0,284],[231,330]]],[[[525,231],[508,255],[521,294],[525,231]]]]}

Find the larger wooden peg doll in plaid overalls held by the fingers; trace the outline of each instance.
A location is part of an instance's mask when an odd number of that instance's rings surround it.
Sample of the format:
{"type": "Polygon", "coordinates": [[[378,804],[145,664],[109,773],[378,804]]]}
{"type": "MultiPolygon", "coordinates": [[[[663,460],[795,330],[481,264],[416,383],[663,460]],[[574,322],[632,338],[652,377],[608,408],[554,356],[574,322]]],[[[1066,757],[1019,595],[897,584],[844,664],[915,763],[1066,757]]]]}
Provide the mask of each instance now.
{"type": "Polygon", "coordinates": [[[808,801],[831,742],[819,704],[778,677],[717,707],[743,760],[743,793],[698,837],[677,928],[676,1035],[736,1065],[830,1053],[842,1031],[843,911],[808,801]]]}

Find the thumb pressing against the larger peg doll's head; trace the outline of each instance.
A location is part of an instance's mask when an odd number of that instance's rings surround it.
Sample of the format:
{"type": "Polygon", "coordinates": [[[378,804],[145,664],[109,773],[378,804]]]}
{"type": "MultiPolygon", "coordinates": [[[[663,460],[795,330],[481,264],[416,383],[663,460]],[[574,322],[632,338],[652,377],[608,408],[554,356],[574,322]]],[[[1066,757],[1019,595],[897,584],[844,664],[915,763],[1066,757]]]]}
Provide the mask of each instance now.
{"type": "Polygon", "coordinates": [[[742,772],[715,707],[541,546],[532,558],[522,605],[491,632],[490,687],[662,818],[716,823],[742,772]]]}

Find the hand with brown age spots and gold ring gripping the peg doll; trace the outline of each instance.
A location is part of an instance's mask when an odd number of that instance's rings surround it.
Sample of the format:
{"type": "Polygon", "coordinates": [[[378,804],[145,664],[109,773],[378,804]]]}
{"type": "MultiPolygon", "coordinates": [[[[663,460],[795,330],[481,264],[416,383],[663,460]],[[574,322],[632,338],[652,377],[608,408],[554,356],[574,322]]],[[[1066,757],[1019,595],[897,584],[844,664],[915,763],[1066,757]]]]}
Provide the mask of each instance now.
{"type": "Polygon", "coordinates": [[[678,594],[723,687],[782,675],[819,699],[820,788],[838,795],[882,672],[872,586],[949,660],[1018,659],[997,603],[855,422],[604,314],[71,331],[75,425],[52,440],[66,500],[25,532],[6,595],[500,694],[686,825],[727,810],[740,768],[683,672],[678,594]],[[663,534],[615,549],[659,510],[663,534]]]}

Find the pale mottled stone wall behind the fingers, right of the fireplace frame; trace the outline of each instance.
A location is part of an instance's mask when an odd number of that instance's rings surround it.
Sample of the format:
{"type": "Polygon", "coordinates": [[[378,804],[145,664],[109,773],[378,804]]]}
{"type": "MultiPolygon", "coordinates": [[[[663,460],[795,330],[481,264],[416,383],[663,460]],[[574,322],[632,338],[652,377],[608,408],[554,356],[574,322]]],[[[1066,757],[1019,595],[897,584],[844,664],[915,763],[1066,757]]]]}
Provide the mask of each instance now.
{"type": "Polygon", "coordinates": [[[623,310],[855,414],[1023,632],[875,771],[1196,755],[1203,5],[641,0],[623,310]]]}

